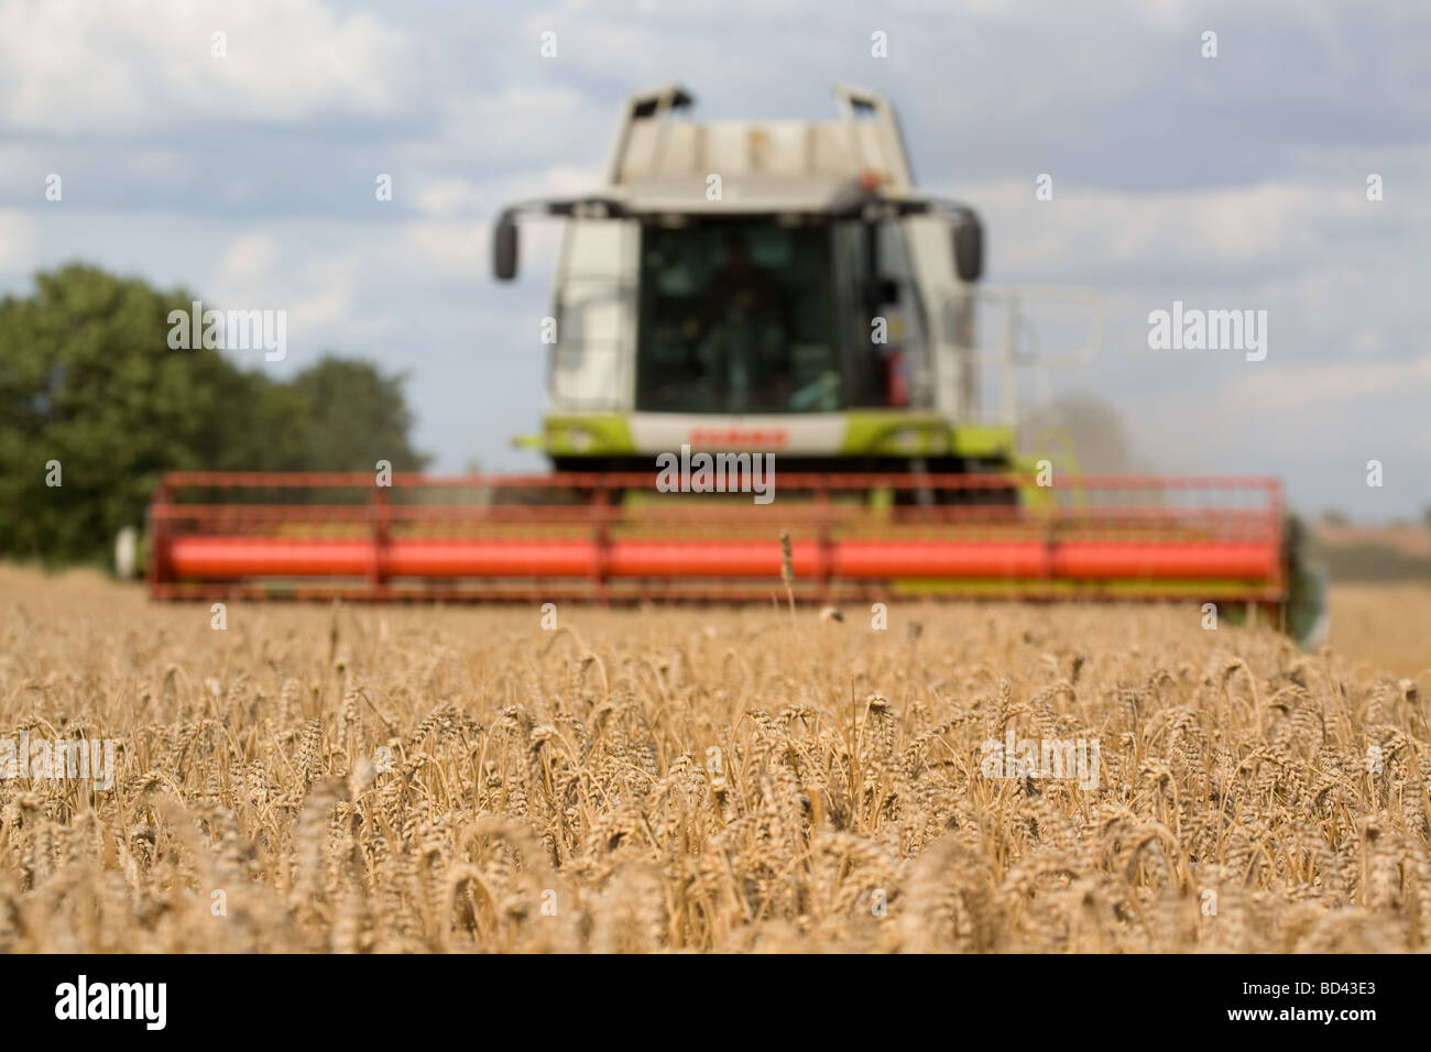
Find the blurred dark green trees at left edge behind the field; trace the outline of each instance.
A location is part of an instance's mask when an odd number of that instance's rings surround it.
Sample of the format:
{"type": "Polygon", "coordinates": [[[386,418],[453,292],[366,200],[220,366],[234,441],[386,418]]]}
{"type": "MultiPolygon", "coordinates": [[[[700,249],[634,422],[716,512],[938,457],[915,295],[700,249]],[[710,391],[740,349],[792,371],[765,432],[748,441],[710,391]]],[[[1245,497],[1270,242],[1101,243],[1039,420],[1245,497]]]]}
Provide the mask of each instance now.
{"type": "Polygon", "coordinates": [[[0,299],[0,555],[104,557],[165,471],[425,464],[401,378],[325,358],[282,382],[170,349],[169,313],[193,299],[86,265],[0,299]]]}

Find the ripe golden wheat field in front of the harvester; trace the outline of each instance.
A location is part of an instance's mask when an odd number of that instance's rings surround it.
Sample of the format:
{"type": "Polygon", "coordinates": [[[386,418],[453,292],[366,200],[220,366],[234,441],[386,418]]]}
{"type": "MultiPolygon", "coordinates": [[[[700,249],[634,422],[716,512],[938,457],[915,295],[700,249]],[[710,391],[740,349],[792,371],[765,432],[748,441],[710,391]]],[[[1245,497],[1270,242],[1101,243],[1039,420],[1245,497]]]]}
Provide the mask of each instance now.
{"type": "Polygon", "coordinates": [[[0,952],[1427,945],[1427,678],[1195,608],[843,614],[216,630],[0,567],[0,734],[117,743],[0,780],[0,952]],[[1010,731],[1096,784],[990,773],[1010,731]]]}

